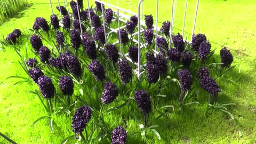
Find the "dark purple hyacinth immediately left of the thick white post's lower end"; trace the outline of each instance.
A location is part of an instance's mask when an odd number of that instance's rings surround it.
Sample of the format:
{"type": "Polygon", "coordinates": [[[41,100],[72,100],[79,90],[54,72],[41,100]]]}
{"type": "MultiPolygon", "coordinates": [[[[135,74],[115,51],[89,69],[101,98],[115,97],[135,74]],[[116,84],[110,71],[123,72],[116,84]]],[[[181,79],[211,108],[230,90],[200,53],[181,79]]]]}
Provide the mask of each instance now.
{"type": "Polygon", "coordinates": [[[124,84],[127,84],[132,79],[132,68],[129,65],[128,60],[118,60],[118,70],[121,80],[124,84]]]}

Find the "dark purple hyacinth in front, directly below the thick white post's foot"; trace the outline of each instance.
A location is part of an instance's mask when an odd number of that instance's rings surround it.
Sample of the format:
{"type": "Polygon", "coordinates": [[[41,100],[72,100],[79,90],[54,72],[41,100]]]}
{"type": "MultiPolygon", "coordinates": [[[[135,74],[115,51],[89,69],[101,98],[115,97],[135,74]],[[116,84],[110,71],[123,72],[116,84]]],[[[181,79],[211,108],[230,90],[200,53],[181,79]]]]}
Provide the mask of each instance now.
{"type": "Polygon", "coordinates": [[[134,99],[143,114],[149,114],[151,112],[150,97],[145,90],[136,91],[134,99]]]}

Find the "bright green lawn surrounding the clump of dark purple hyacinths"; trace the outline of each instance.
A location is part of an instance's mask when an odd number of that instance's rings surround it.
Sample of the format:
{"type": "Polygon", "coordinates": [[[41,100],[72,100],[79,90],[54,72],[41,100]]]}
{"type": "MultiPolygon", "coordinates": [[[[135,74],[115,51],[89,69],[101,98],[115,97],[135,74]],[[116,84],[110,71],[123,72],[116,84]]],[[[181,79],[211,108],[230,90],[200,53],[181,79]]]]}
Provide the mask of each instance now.
{"type": "MultiPolygon", "coordinates": [[[[57,6],[57,1],[53,1],[57,6]]],[[[127,2],[121,3],[123,8],[127,9],[127,2]],[[125,7],[126,6],[126,7],[125,7]]],[[[175,14],[174,33],[181,32],[183,25],[183,4],[185,1],[177,3],[175,14]]],[[[0,26],[1,34],[4,38],[11,33],[14,28],[31,28],[35,17],[45,17],[50,20],[50,6],[46,1],[31,1],[29,9],[22,11],[19,17],[9,19],[0,26]],[[22,26],[22,27],[21,27],[22,26]]],[[[186,33],[191,33],[194,20],[194,8],[196,1],[188,2],[188,14],[186,21],[186,33]]],[[[153,14],[155,18],[155,1],[145,1],[144,6],[148,7],[143,13],[153,14]]],[[[171,1],[162,1],[159,3],[159,21],[170,21],[171,1]]],[[[254,46],[256,45],[255,29],[256,22],[252,18],[256,16],[253,1],[201,1],[199,5],[197,25],[195,33],[204,33],[211,40],[215,52],[215,58],[219,55],[222,46],[227,46],[234,54],[234,63],[237,67],[231,71],[229,78],[235,82],[222,79],[218,81],[222,94],[220,101],[234,101],[236,106],[230,107],[229,111],[235,116],[231,121],[227,115],[210,110],[207,118],[204,118],[204,110],[207,103],[185,107],[182,111],[175,109],[173,114],[163,117],[158,132],[162,140],[158,141],[149,137],[148,143],[255,143],[256,138],[256,59],[254,46]],[[240,73],[238,72],[240,71],[240,73]],[[238,131],[242,132],[239,137],[238,131]]],[[[137,10],[137,3],[133,2],[131,9],[137,10]]],[[[57,13],[57,10],[54,9],[57,13]]],[[[161,24],[161,23],[159,23],[161,24]]],[[[161,25],[160,25],[161,26],[161,25]]],[[[23,44],[30,47],[27,37],[20,40],[17,47],[25,50],[23,44]]],[[[46,114],[41,102],[36,95],[27,93],[28,90],[38,89],[32,82],[30,84],[22,83],[13,86],[17,79],[8,79],[6,77],[13,75],[26,76],[17,61],[18,55],[12,46],[4,47],[0,52],[0,132],[4,133],[18,143],[59,143],[64,138],[73,134],[70,128],[70,119],[64,115],[54,117],[54,132],[50,133],[46,121],[32,123],[40,116],[46,114]]],[[[220,61],[220,60],[218,60],[220,61]]],[[[177,108],[177,102],[170,101],[170,104],[177,108]]],[[[133,106],[135,107],[135,106],[133,106]]],[[[155,117],[155,115],[152,115],[155,117]]],[[[113,117],[107,117],[106,121],[113,121],[113,117]]],[[[138,129],[139,125],[135,121],[129,121],[132,124],[131,131],[138,129]]],[[[129,135],[130,136],[130,135],[129,135]]],[[[129,138],[132,141],[139,137],[129,138]]],[[[130,141],[130,142],[131,142],[130,141]]],[[[134,141],[132,141],[134,142],[134,141]]],[[[131,142],[131,143],[132,143],[131,142]]],[[[138,143],[137,142],[137,143],[138,143]]],[[[2,137],[0,143],[7,143],[2,137]]]]}

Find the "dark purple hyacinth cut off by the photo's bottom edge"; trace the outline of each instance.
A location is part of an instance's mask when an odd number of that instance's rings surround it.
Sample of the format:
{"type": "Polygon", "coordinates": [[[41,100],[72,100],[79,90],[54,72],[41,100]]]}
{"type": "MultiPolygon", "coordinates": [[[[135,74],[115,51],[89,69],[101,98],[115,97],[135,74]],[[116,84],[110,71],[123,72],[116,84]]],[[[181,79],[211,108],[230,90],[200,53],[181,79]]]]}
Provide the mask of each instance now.
{"type": "Polygon", "coordinates": [[[111,135],[111,144],[126,144],[127,133],[122,126],[117,126],[111,135]]]}

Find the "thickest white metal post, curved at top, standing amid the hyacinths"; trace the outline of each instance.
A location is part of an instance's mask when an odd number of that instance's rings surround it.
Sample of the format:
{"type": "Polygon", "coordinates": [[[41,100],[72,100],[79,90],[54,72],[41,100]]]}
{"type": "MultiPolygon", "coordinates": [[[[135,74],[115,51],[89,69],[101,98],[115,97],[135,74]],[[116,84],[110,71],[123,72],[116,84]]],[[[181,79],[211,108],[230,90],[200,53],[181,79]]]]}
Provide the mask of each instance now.
{"type": "Polygon", "coordinates": [[[138,5],[138,78],[140,79],[140,4],[144,0],[140,0],[139,5],[138,5]]]}

